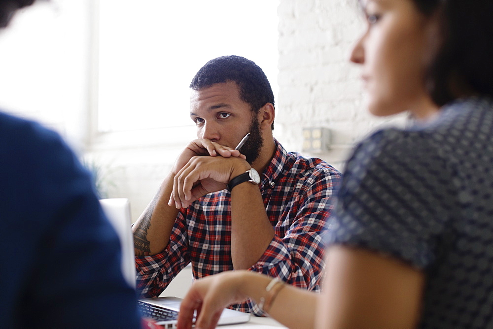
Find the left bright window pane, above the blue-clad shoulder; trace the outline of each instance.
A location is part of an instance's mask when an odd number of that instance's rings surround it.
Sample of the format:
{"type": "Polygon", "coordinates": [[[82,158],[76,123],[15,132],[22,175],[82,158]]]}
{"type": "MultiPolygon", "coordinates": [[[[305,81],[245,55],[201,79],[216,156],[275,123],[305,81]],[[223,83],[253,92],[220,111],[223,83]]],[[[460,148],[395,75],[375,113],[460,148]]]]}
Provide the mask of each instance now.
{"type": "Polygon", "coordinates": [[[0,30],[0,107],[79,149],[87,132],[87,0],[36,1],[0,30]]]}

